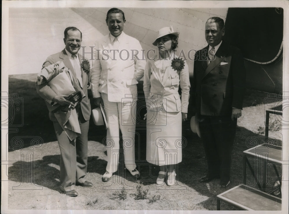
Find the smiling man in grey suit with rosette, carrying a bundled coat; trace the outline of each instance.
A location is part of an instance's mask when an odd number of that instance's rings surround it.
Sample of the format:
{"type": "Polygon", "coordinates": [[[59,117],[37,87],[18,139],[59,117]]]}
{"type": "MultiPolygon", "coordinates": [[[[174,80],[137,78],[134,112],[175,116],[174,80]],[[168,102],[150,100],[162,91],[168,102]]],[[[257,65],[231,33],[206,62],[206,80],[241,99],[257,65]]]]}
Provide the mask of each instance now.
{"type": "MultiPolygon", "coordinates": [[[[90,102],[87,94],[87,87],[90,82],[90,68],[83,66],[84,58],[78,53],[81,47],[82,34],[76,27],[67,27],[64,31],[65,49],[60,53],[49,56],[43,63],[43,67],[62,61],[69,68],[78,80],[85,97],[81,103],[75,106],[78,115],[78,122],[81,134],[75,140],[71,140],[61,128],[56,120],[54,113],[49,111],[49,118],[53,121],[56,137],[60,147],[60,189],[68,196],[77,196],[75,185],[82,187],[92,187],[92,183],[86,180],[87,169],[87,141],[90,119],[90,102]]],[[[88,61],[86,61],[88,62],[88,61]]],[[[45,83],[36,83],[38,94],[45,99],[48,107],[54,103],[68,106],[73,103],[68,101],[67,95],[56,94],[50,86],[45,83]]],[[[50,108],[49,108],[50,109],[50,108]]]]}

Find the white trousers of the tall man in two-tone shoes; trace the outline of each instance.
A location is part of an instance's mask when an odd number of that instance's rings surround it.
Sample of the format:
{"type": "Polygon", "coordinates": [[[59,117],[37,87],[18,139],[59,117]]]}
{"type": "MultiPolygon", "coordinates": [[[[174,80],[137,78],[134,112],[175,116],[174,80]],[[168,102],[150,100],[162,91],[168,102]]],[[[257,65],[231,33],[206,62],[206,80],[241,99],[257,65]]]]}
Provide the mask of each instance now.
{"type": "Polygon", "coordinates": [[[123,137],[124,161],[128,170],[136,168],[135,130],[136,130],[136,94],[126,96],[122,102],[108,101],[108,95],[101,93],[105,117],[108,122],[106,148],[108,164],[106,171],[116,172],[119,160],[119,129],[123,137]]]}

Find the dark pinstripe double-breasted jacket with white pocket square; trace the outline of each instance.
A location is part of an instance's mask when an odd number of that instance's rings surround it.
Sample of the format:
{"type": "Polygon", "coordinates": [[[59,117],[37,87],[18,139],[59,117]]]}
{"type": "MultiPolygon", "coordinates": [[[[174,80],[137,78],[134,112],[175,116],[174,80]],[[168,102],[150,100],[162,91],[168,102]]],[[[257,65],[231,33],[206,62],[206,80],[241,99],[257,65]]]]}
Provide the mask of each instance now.
{"type": "Polygon", "coordinates": [[[209,45],[195,54],[191,98],[195,113],[229,116],[242,109],[246,71],[240,49],[224,41],[208,64],[209,45]]]}

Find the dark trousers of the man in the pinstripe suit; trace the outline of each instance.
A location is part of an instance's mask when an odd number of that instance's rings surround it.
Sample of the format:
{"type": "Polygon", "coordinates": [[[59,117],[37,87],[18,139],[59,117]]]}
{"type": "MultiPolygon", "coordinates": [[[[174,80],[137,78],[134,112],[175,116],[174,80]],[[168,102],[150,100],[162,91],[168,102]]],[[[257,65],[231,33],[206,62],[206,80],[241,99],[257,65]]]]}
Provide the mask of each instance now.
{"type": "Polygon", "coordinates": [[[231,155],[237,119],[231,116],[203,116],[199,118],[201,139],[208,161],[208,177],[220,175],[221,182],[230,180],[231,155]]]}

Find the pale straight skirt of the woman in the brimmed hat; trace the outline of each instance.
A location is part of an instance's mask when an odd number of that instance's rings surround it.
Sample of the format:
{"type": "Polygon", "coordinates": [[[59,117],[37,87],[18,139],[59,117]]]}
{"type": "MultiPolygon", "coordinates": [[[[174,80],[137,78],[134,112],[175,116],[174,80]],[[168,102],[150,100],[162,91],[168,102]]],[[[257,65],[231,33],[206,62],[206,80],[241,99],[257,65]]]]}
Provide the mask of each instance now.
{"type": "Polygon", "coordinates": [[[181,112],[147,111],[147,161],[155,165],[181,162],[181,112]]]}

